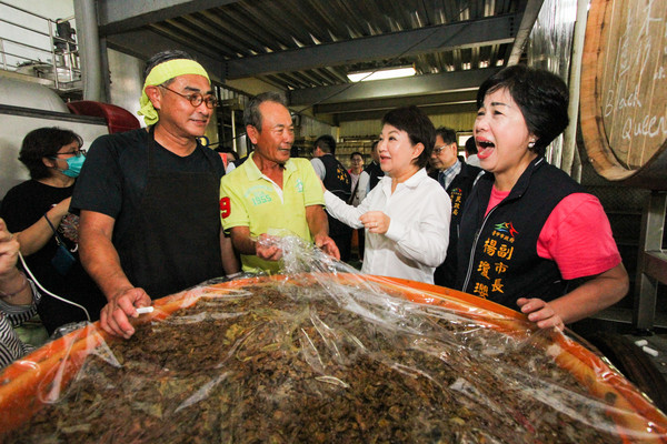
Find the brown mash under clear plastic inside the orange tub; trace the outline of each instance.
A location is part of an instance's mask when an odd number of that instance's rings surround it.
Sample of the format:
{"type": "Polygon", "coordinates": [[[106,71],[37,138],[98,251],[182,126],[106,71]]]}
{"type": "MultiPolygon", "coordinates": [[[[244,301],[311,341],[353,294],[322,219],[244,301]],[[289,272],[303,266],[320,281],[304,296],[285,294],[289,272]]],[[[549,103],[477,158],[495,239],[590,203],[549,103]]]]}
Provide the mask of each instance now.
{"type": "MultiPolygon", "coordinates": [[[[332,282],[332,281],[331,281],[332,282]]],[[[256,280],[91,354],[17,443],[611,443],[537,344],[367,284],[256,280]]]]}

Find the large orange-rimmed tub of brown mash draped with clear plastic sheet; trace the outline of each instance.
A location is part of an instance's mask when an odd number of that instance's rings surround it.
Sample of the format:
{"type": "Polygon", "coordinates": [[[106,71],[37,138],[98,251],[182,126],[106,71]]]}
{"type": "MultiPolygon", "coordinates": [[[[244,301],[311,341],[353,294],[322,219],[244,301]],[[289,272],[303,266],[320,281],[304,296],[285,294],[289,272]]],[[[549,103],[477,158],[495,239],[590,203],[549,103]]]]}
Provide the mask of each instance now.
{"type": "Polygon", "coordinates": [[[277,242],[283,275],[205,283],[128,341],[89,325],[8,367],[4,441],[667,441],[665,415],[560,332],[277,242]]]}

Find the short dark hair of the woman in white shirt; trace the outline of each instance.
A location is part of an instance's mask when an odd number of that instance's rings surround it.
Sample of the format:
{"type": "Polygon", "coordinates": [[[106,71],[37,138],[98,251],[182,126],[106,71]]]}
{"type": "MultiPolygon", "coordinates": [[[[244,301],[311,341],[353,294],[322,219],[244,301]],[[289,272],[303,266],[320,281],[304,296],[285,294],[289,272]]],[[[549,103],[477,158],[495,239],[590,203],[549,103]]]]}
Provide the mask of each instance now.
{"type": "Polygon", "coordinates": [[[425,168],[436,144],[436,128],[426,113],[415,105],[396,108],[385,114],[382,125],[385,124],[407,132],[412,145],[424,145],[424,151],[415,159],[415,164],[425,168]]]}

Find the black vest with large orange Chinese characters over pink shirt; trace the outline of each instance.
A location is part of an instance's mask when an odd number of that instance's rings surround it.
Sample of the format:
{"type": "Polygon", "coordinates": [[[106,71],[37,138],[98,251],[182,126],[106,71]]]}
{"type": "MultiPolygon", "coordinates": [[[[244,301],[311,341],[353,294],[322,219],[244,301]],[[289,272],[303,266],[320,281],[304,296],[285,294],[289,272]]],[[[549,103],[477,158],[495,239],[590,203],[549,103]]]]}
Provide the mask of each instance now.
{"type": "Polygon", "coordinates": [[[464,209],[456,287],[514,310],[519,297],[559,297],[566,282],[556,262],[538,256],[537,241],[554,208],[584,189],[538,157],[485,216],[492,185],[494,174],[481,176],[464,209]]]}

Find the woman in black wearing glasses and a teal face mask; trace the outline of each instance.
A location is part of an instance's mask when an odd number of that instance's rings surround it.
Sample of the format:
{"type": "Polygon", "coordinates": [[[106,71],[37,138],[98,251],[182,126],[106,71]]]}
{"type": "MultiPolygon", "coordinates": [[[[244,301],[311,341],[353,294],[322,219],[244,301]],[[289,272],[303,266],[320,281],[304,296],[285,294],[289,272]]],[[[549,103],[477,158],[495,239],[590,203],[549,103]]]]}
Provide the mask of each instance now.
{"type": "MultiPolygon", "coordinates": [[[[79,218],[69,204],[86,160],[82,140],[69,130],[40,128],[23,139],[19,160],[30,180],[9,190],[0,206],[21,254],[37,280],[51,293],[83,305],[91,320],[99,319],[106,303],[81,268],[78,254],[79,218]]],[[[48,295],[38,312],[49,334],[67,323],[86,321],[86,313],[48,295]]]]}

